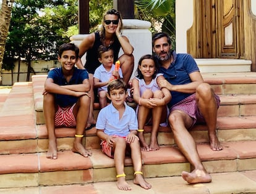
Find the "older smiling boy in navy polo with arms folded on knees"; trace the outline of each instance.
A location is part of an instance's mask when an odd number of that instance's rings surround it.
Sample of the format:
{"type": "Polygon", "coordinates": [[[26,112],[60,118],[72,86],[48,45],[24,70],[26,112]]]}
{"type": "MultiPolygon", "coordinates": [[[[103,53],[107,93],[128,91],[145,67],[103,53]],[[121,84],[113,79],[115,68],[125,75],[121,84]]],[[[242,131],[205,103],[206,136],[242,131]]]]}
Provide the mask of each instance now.
{"type": "Polygon", "coordinates": [[[88,73],[75,67],[79,48],[67,43],[59,47],[61,68],[49,71],[43,92],[43,113],[48,131],[49,147],[46,157],[57,159],[55,127],[75,127],[73,152],[90,156],[82,145],[83,133],[90,109],[88,73]]]}

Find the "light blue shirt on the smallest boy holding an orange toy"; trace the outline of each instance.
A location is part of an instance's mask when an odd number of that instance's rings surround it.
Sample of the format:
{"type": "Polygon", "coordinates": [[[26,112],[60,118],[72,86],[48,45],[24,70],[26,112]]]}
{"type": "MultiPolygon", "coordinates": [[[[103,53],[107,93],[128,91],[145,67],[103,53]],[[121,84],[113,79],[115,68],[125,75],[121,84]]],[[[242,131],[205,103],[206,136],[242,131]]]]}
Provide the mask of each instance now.
{"type": "MultiPolygon", "coordinates": [[[[114,64],[112,65],[110,71],[106,71],[106,68],[101,63],[101,65],[98,68],[96,68],[93,78],[99,79],[100,82],[108,81],[112,76],[112,71],[114,71],[114,64]]],[[[123,76],[122,76],[121,68],[119,68],[118,73],[120,75],[120,78],[122,79],[123,76]]],[[[108,91],[108,87],[107,86],[99,87],[98,92],[100,92],[100,91],[108,91]]]]}

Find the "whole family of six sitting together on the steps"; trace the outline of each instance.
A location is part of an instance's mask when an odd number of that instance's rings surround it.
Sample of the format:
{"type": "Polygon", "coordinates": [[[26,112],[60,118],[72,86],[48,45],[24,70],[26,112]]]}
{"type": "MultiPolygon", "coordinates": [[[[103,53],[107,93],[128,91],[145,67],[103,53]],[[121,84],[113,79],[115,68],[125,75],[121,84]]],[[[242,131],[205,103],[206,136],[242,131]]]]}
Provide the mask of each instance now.
{"type": "Polygon", "coordinates": [[[126,103],[127,85],[134,69],[134,48],[122,35],[122,18],[111,9],[103,17],[101,31],[89,34],[79,47],[72,43],[59,47],[60,68],[49,71],[43,92],[43,112],[48,131],[47,158],[57,159],[55,127],[75,127],[73,152],[92,155],[82,145],[85,129],[96,125],[101,150],[114,158],[117,187],[131,190],[124,174],[124,158],[130,156],[134,166],[134,184],[150,189],[143,179],[141,152],[159,150],[158,127],[171,128],[182,154],[194,167],[182,172],[189,184],[211,182],[203,167],[195,140],[189,129],[196,123],[206,123],[210,148],[222,150],[216,135],[216,117],[220,98],[202,75],[189,54],[171,50],[166,33],[152,36],[153,55],[143,55],[132,79],[130,93],[137,108],[126,103]],[[118,58],[119,50],[124,54],[118,58]],[[80,57],[87,53],[85,66],[80,57]],[[119,60],[120,68],[114,62],[119,60]],[[77,67],[75,67],[77,65],[77,67]],[[93,116],[94,89],[98,89],[100,113],[93,116]],[[143,137],[145,125],[151,125],[150,143],[143,137]]]}

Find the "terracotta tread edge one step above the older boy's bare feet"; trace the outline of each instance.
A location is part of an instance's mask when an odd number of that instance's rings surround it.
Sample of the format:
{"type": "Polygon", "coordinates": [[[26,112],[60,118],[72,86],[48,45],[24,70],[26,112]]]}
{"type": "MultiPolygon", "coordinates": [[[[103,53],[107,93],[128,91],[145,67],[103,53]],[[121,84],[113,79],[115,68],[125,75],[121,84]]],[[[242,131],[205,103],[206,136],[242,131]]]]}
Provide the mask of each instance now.
{"type": "MultiPolygon", "coordinates": [[[[6,119],[11,119],[10,122],[16,123],[13,118],[7,117],[6,119]]],[[[26,120],[25,120],[26,121],[26,120]]],[[[28,120],[29,121],[29,120],[28,120]]],[[[256,128],[256,116],[229,116],[229,117],[219,117],[217,118],[216,130],[225,131],[230,129],[255,129],[256,128]]],[[[12,126],[9,123],[8,126],[0,126],[2,130],[0,134],[0,140],[20,140],[20,139],[46,139],[47,130],[45,124],[36,125],[30,124],[30,122],[24,122],[23,126],[12,126]],[[26,126],[26,123],[29,124],[26,126]],[[12,132],[14,131],[14,132],[12,132]],[[19,131],[19,134],[17,134],[19,131]]],[[[74,137],[75,128],[56,128],[56,137],[74,137]],[[63,130],[64,129],[64,130],[63,130]]],[[[145,133],[150,132],[151,126],[145,127],[145,133]]],[[[190,131],[207,131],[207,126],[205,124],[197,124],[190,131]]],[[[159,128],[159,132],[171,132],[168,127],[159,128]]],[[[95,136],[96,128],[93,127],[90,130],[85,131],[86,136],[95,136]]]]}

